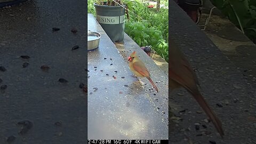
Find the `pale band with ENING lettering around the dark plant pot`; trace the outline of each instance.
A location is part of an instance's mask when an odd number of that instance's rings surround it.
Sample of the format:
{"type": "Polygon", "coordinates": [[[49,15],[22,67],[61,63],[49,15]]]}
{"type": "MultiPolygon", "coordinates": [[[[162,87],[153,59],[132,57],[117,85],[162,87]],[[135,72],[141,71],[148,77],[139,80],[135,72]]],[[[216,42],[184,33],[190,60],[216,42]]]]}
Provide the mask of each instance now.
{"type": "Polygon", "coordinates": [[[99,23],[115,25],[124,22],[125,15],[117,16],[117,17],[106,17],[102,15],[96,15],[96,19],[99,23]]]}

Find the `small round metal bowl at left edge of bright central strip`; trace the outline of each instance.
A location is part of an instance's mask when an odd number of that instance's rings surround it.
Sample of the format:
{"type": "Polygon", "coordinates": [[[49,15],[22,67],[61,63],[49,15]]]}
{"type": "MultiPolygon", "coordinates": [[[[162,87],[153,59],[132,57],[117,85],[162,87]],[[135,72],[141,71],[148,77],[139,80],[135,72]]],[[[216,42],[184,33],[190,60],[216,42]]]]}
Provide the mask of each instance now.
{"type": "Polygon", "coordinates": [[[98,49],[99,43],[100,43],[100,37],[101,34],[94,32],[94,31],[88,31],[87,33],[87,51],[94,51],[98,49]]]}

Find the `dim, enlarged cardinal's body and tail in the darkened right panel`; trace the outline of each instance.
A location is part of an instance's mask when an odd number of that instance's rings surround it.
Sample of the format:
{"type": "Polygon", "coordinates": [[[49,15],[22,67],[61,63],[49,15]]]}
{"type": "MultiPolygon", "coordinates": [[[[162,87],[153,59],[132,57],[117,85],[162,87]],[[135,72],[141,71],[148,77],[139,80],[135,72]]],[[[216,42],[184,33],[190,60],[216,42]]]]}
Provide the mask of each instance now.
{"type": "Polygon", "coordinates": [[[213,110],[207,105],[202,94],[197,88],[198,81],[196,74],[177,45],[173,43],[172,39],[169,39],[169,42],[171,44],[169,52],[169,87],[171,90],[184,87],[191,95],[193,95],[198,104],[210,117],[221,137],[223,137],[224,132],[222,130],[220,120],[214,114],[213,110]]]}

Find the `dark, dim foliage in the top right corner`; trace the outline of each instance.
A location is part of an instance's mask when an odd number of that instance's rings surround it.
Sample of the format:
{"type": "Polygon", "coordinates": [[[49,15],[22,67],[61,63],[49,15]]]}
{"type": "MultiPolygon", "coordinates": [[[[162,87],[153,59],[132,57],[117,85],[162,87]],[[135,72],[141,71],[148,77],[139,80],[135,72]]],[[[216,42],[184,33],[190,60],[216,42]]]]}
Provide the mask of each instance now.
{"type": "Polygon", "coordinates": [[[211,0],[213,5],[240,28],[250,39],[256,39],[256,1],[255,0],[211,0]]]}

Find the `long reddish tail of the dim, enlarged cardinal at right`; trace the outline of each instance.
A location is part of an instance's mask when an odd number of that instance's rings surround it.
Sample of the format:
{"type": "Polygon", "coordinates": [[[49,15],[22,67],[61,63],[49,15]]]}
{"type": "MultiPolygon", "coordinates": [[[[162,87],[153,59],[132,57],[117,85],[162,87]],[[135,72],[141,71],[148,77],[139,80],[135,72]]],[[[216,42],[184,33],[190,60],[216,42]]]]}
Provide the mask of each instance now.
{"type": "Polygon", "coordinates": [[[207,114],[207,116],[210,117],[212,123],[214,124],[214,126],[216,127],[217,131],[220,133],[221,137],[223,137],[224,132],[222,130],[222,126],[221,126],[221,122],[220,120],[217,118],[217,116],[214,114],[214,112],[212,111],[212,109],[209,107],[209,105],[206,103],[206,101],[204,100],[203,96],[198,93],[198,94],[193,94],[194,98],[196,99],[196,101],[198,102],[198,104],[202,107],[202,109],[205,111],[205,113],[207,114]]]}

